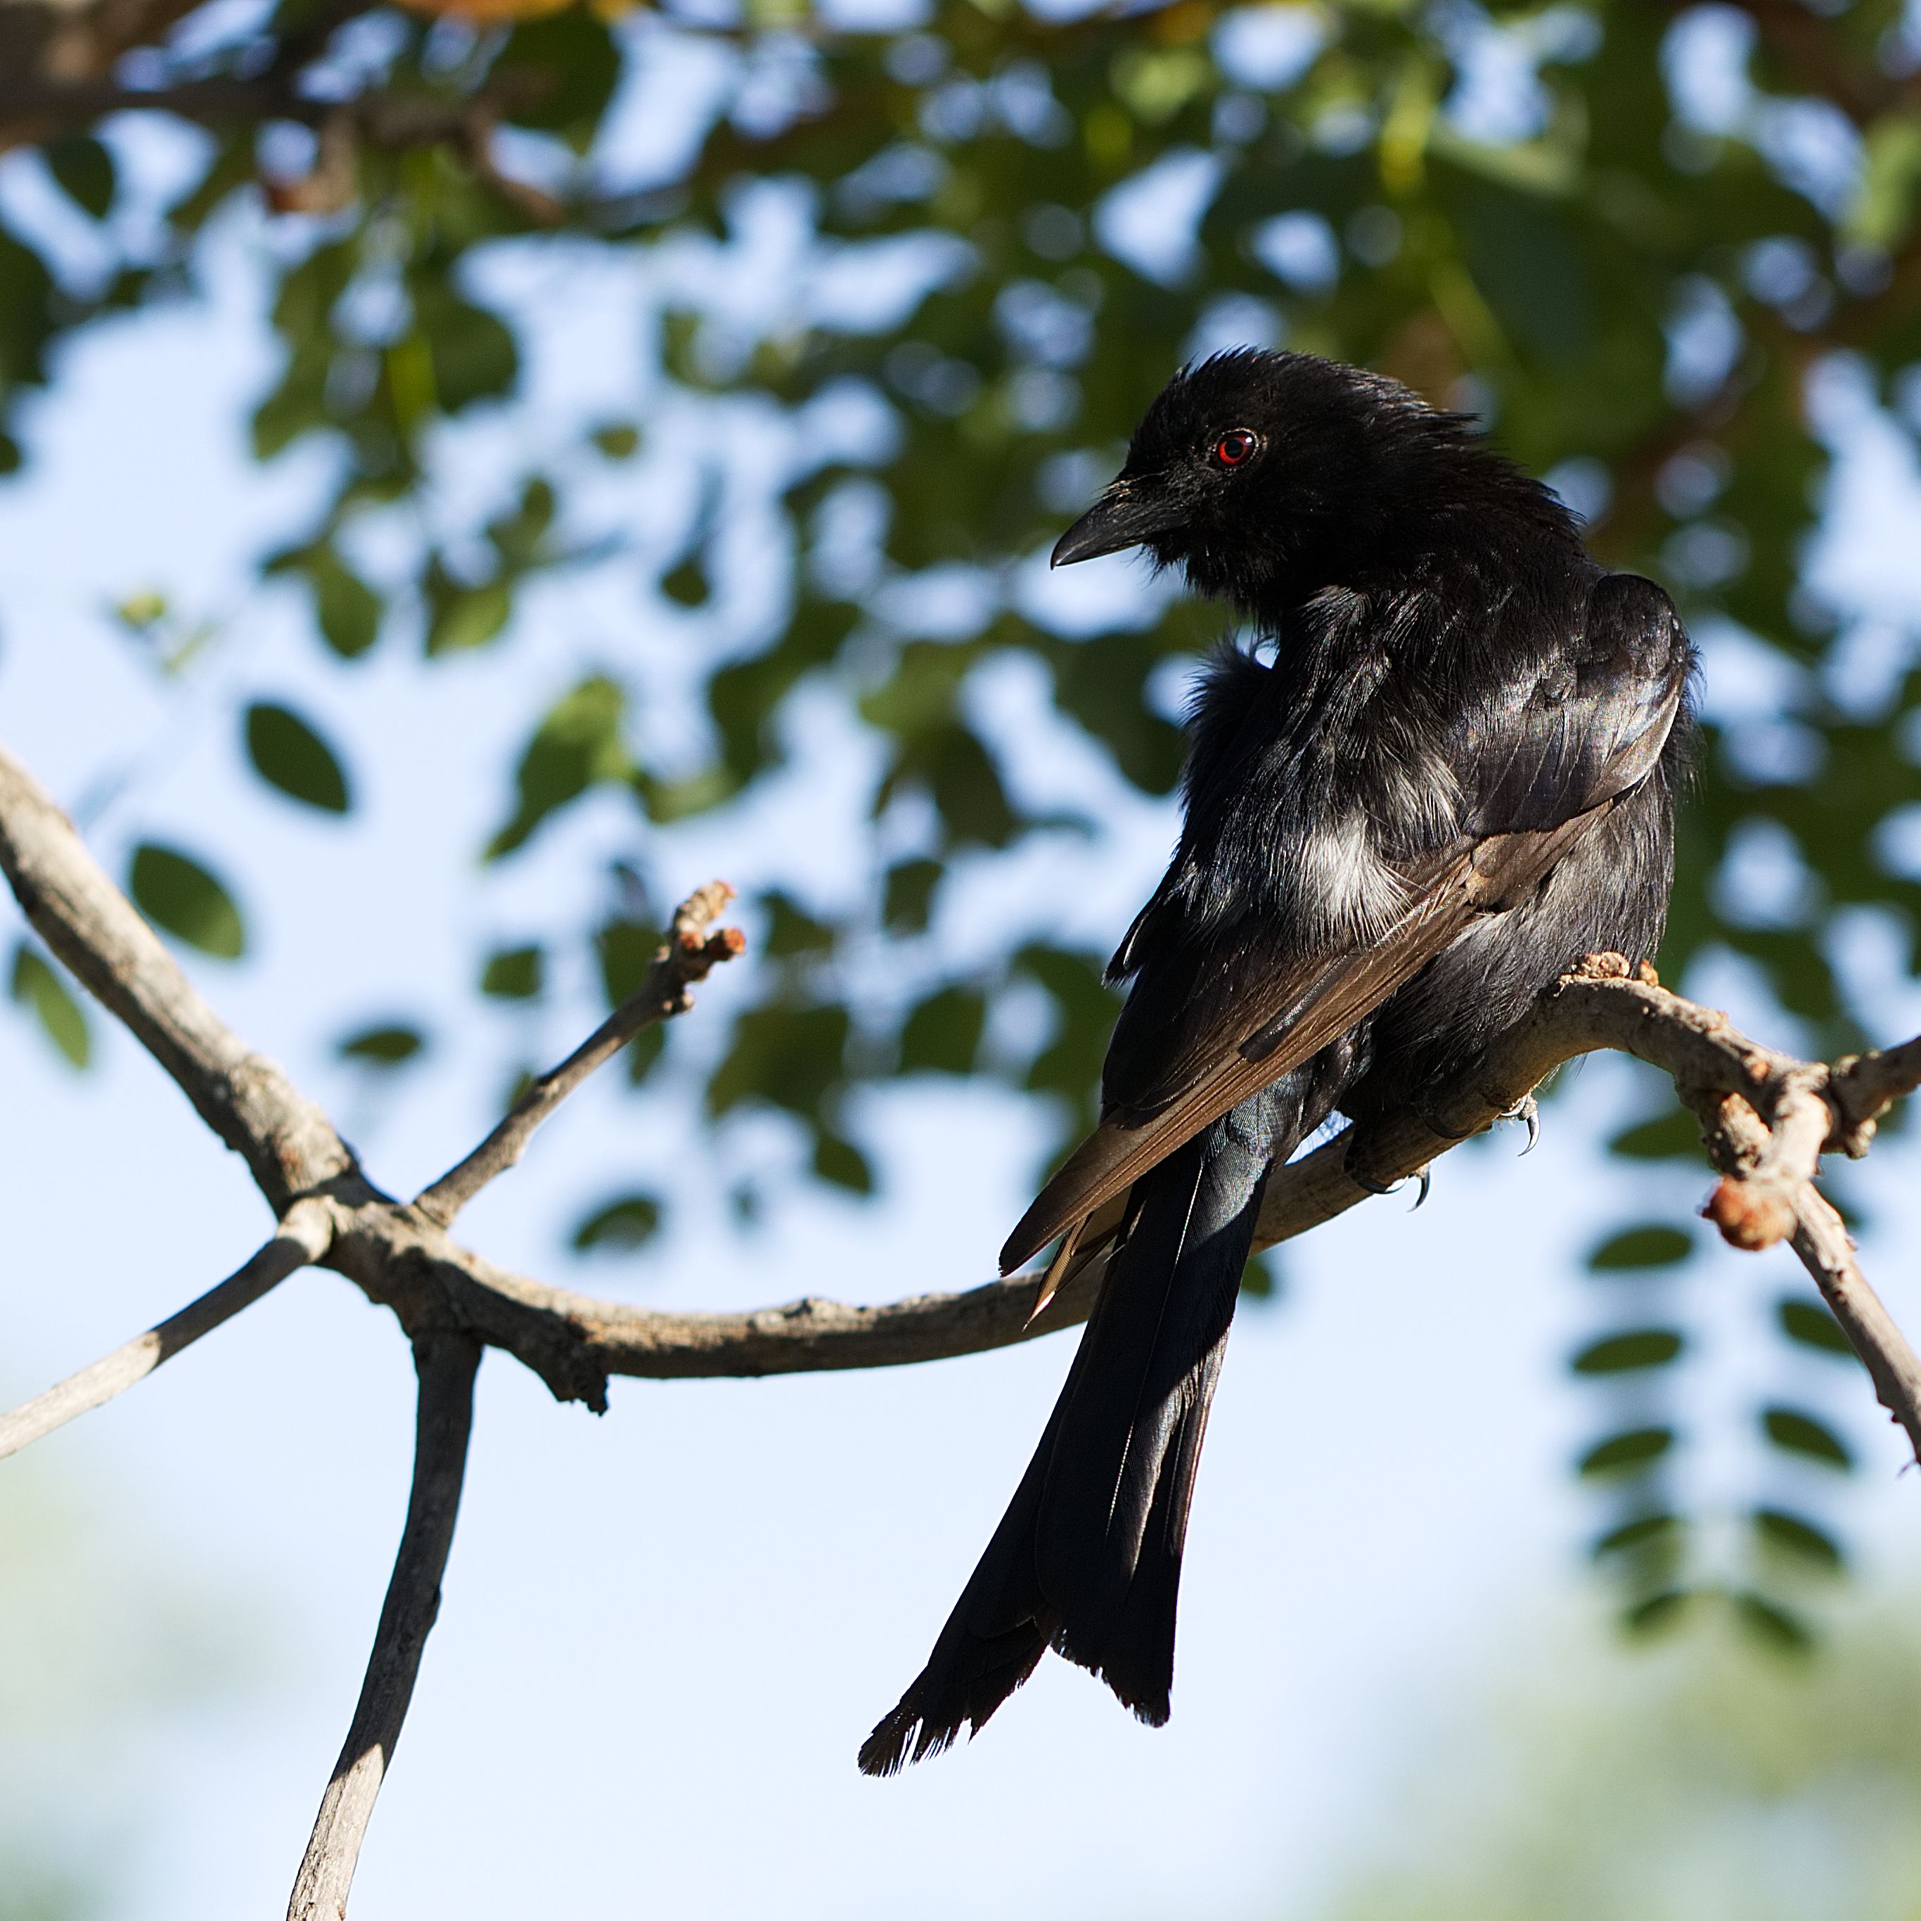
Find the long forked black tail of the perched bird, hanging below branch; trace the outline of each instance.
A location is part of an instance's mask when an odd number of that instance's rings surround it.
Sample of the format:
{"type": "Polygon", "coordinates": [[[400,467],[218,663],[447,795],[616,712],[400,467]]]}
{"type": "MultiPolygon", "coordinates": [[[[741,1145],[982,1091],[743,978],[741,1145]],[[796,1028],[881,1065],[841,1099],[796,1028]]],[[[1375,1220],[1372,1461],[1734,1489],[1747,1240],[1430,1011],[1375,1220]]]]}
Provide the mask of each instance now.
{"type": "Polygon", "coordinates": [[[1306,1131],[1301,1093],[1277,1083],[1135,1183],[1047,1431],[863,1773],[976,1731],[1049,1646],[1168,1719],[1201,1439],[1268,1168],[1306,1131]]]}

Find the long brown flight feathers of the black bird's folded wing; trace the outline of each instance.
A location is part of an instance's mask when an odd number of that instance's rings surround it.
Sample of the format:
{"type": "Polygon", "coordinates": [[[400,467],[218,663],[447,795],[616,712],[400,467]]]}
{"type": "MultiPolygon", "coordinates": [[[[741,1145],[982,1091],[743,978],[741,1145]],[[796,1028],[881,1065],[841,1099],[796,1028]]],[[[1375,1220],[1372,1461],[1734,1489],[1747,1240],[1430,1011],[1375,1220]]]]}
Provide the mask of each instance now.
{"type": "Polygon", "coordinates": [[[1612,807],[1606,799],[1560,826],[1456,843],[1408,876],[1406,909],[1379,939],[1279,964],[1237,995],[1216,1022],[1216,1045],[1195,1049],[1206,1066],[1172,1101],[1137,1126],[1105,1120],[1068,1156],[1009,1235],[1001,1272],[1024,1266],[1210,1122],[1366,1020],[1477,914],[1520,901],[1612,807]]]}

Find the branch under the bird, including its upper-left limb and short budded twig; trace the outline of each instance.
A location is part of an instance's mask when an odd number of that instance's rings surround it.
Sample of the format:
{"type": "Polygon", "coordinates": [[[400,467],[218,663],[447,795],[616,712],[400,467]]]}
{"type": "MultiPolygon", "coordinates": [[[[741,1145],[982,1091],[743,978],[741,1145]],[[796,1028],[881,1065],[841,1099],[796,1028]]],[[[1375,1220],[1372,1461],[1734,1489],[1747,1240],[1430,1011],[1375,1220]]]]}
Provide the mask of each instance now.
{"type": "MultiPolygon", "coordinates": [[[[451,1218],[511,1166],[540,1120],[594,1066],[647,1018],[661,1018],[667,987],[655,976],[488,1141],[421,1203],[403,1206],[369,1187],[319,1108],[215,1020],[52,801],[4,751],[0,864],[48,943],[146,1041],[221,1135],[248,1155],[269,1201],[284,1204],[290,1176],[325,1183],[334,1208],[327,1266],[390,1306],[415,1339],[434,1327],[465,1329],[515,1354],[563,1400],[605,1408],[611,1375],[801,1374],[976,1354],[1074,1325],[1093,1304],[1099,1256],[1032,1324],[1032,1277],[886,1306],[805,1299],[740,1314],[667,1314],[509,1274],[455,1243],[436,1216],[451,1218]]],[[[701,926],[707,920],[711,912],[701,926]]],[[[688,932],[697,937],[697,928],[688,932]]],[[[711,953],[715,939],[707,936],[699,947],[705,964],[720,959],[711,953]]],[[[726,949],[732,947],[728,939],[726,949]]],[[[690,959],[670,951],[657,966],[686,966],[690,959]]],[[[1664,1068],[1704,1116],[1712,1153],[1721,1137],[1715,1158],[1723,1183],[1712,1218],[1744,1247],[1794,1233],[1800,1187],[1813,1176],[1815,1156],[1833,1149],[1863,1153],[1875,1116],[1921,1085],[1921,1039],[1833,1068],[1794,1060],[1760,1047],[1725,1014],[1694,1007],[1652,978],[1629,980],[1619,957],[1596,957],[1548,989],[1489,1053],[1471,1083],[1450,1089],[1427,1114],[1350,1128],[1279,1170],[1268,1183],[1256,1245],[1306,1233],[1379,1187],[1420,1172],[1456,1141],[1512,1112],[1564,1060],[1596,1047],[1621,1049],[1664,1068]],[[1729,1101],[1763,1126],[1767,1153],[1742,1158],[1725,1139],[1727,1122],[1717,1118],[1715,1103],[1729,1101]],[[1787,1210],[1783,1197],[1790,1203],[1787,1210]]],[[[1871,1366],[1881,1370],[1877,1383],[1883,1375],[1904,1377],[1898,1356],[1877,1356],[1871,1366]]],[[[1921,1406],[1915,1414],[1921,1423],[1921,1406]]]]}

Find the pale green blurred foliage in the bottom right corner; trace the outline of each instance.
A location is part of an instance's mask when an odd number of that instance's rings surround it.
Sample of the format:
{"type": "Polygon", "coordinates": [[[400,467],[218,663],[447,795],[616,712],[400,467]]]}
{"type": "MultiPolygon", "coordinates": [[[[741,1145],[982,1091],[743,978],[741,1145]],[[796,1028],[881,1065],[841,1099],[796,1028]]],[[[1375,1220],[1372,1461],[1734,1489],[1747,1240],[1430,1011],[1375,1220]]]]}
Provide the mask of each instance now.
{"type": "Polygon", "coordinates": [[[1685,1658],[1506,1637],[1316,1921],[1921,1921],[1911,1602],[1846,1619],[1821,1662],[1694,1606],[1717,1631],[1685,1658]]]}

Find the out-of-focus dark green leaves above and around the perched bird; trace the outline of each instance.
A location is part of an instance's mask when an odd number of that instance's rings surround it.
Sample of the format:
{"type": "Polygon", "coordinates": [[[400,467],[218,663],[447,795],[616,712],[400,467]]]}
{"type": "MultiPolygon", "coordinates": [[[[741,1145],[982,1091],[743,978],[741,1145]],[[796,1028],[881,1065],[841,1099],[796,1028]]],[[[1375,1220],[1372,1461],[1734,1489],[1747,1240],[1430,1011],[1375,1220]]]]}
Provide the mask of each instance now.
{"type": "MultiPolygon", "coordinates": [[[[1062,1143],[1089,1118],[1114,1009],[1103,957],[1045,926],[955,939],[978,932],[953,901],[982,876],[1097,834],[1028,797],[984,690],[1024,669],[1114,782],[1172,791],[1168,670],[1222,615],[1143,590],[1068,632],[1030,588],[1170,369],[1237,340],[1366,361],[1479,411],[1604,557],[1660,576],[1712,659],[1765,690],[1710,709],[1662,966],[1739,959],[1810,1047],[1860,1045],[1871,1009],[1836,934],[1875,916],[1911,962],[1921,678],[1911,634],[1825,603],[1808,553],[1819,396],[1902,432],[1921,396],[1921,40],[1896,0],[1078,17],[903,0],[893,25],[761,0],[513,12],[0,10],[0,144],[38,142],[29,163],[111,255],[73,271],[40,229],[0,225],[0,426],[54,377],[60,340],[177,298],[213,223],[246,217],[271,240],[282,350],[254,451],[330,459],[261,578],[305,597],[342,728],[373,649],[457,663],[524,645],[536,590],[638,572],[634,636],[526,717],[476,849],[523,861],[574,809],[632,809],[632,859],[572,936],[609,1001],[657,937],[653,895],[690,878],[674,826],[745,820],[782,791],[795,717],[839,713],[872,755],[868,857],[834,897],[759,899],[753,989],[711,1057],[678,1026],[634,1051],[636,1083],[663,1047],[699,1078],[722,1156],[753,1120],[791,1135],[803,1178],[866,1193],[861,1093],[911,1076],[1033,1095],[1062,1143]],[[138,219],[121,217],[138,181],[115,104],[204,129],[194,177],[138,219]],[[653,159],[620,159],[663,127],[653,159]],[[540,313],[490,294],[492,269],[544,250],[540,313]],[[517,455],[540,471],[492,499],[448,486],[453,425],[515,417],[530,327],[596,263],[659,269],[634,403],[569,450],[517,455]],[[613,467],[640,476],[647,528],[592,532],[584,503],[613,467]],[[742,615],[753,569],[778,603],[742,615]],[[653,724],[649,663],[688,678],[692,730],[653,724]]],[[[0,465],[17,461],[0,436],[0,465]]],[[[204,638],[159,596],[119,619],[169,672],[204,638]]],[[[257,703],[242,732],[279,793],[352,805],[350,757],[315,720],[257,703]]],[[[133,889],[177,937],[242,953],[234,895],[196,855],[142,845],[133,889]]],[[[565,976],[567,936],[540,932],[480,957],[484,995],[534,1003],[565,976]]],[[[13,999],[85,1058],[31,949],[13,999]]],[[[340,1043],[369,1066],[419,1047],[409,1026],[340,1043]]],[[[1614,1147],[1650,1179],[1696,1151],[1671,1103],[1614,1147]]],[[[734,1179],[743,1214],[763,1179],[734,1179]]],[[[574,1243],[634,1245],[657,1220],[651,1195],[596,1203],[574,1243]]],[[[1673,1291],[1694,1249],[1685,1220],[1642,1218],[1591,1258],[1635,1293],[1571,1356],[1610,1410],[1577,1462],[1610,1491],[1596,1554],[1631,1619],[1739,1575],[1750,1625],[1792,1639],[1800,1571],[1781,1566],[1838,1550],[1771,1475],[1848,1464],[1792,1385],[1835,1329],[1783,1302],[1783,1381],[1742,1437],[1742,1544],[1702,1560],[1671,1485],[1692,1445],[1673,1291]]]]}

